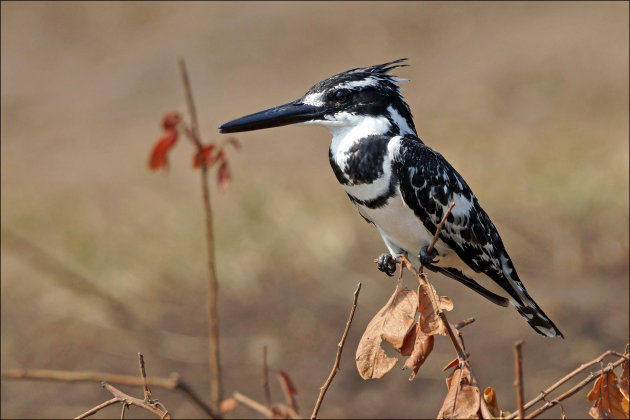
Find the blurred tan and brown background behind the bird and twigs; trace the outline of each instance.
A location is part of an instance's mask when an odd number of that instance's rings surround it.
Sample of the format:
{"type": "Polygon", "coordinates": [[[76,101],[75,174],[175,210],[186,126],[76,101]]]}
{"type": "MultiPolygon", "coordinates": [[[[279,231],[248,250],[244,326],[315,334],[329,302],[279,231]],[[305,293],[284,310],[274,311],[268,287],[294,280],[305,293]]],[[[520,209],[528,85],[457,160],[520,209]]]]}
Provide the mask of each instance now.
{"type": "MultiPolygon", "coordinates": [[[[168,174],[147,159],[168,111],[185,111],[186,59],[201,131],[285,103],[353,67],[395,74],[421,138],[467,179],[531,294],[566,335],[537,335],[512,308],[445,277],[480,385],[525,396],[628,341],[628,3],[2,2],[2,369],[179,372],[208,394],[199,174],[181,141],[168,174]],[[7,233],[9,232],[9,233],[7,233]],[[59,275],[12,235],[87,281],[59,275]]],[[[394,281],[385,250],[329,167],[323,128],[237,135],[233,182],[213,180],[225,395],[263,401],[261,353],[310,415],[363,283],[325,417],[434,417],[454,353],[438,338],[417,379],[363,381],[354,352],[394,281]]],[[[413,286],[413,279],[407,284],[413,286]]],[[[137,393],[139,390],[122,389],[137,393]]],[[[280,388],[272,378],[275,400],[280,388]]],[[[586,392],[567,401],[584,417],[586,392]]],[[[176,417],[201,413],[154,389],[176,417]]],[[[2,381],[1,415],[70,417],[98,384],[2,381]]],[[[109,408],[100,417],[118,416],[109,408]]],[[[137,409],[131,417],[143,416],[137,409]]],[[[256,416],[237,408],[230,417],[256,416]]],[[[559,416],[559,410],[548,417],[559,416]]]]}

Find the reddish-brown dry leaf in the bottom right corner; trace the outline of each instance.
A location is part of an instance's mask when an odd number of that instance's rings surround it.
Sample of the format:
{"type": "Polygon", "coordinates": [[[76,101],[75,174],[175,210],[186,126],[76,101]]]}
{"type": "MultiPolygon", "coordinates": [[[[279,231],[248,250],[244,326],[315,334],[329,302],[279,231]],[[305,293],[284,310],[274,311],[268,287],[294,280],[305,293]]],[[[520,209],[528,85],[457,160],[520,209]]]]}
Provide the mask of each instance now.
{"type": "Polygon", "coordinates": [[[586,398],[593,402],[593,407],[588,412],[593,418],[628,418],[628,400],[619,391],[617,375],[612,370],[597,378],[586,398]]]}

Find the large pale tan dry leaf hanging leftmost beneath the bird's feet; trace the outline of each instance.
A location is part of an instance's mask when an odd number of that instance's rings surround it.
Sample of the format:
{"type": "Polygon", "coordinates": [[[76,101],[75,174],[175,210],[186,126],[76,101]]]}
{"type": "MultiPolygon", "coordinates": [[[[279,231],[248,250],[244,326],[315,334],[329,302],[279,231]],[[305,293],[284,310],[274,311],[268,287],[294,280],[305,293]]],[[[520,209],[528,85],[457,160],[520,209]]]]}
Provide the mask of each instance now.
{"type": "Polygon", "coordinates": [[[406,288],[396,289],[385,306],[372,318],[356,353],[357,369],[363,379],[382,378],[394,368],[398,359],[388,357],[381,342],[385,340],[400,350],[417,310],[416,292],[406,288]]]}

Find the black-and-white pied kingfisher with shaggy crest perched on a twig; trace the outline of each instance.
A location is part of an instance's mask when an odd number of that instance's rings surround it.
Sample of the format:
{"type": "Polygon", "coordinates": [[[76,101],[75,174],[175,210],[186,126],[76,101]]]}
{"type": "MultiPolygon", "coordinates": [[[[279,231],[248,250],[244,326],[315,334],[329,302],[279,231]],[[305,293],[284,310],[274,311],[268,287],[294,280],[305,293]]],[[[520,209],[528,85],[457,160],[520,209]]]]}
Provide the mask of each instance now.
{"type": "Polygon", "coordinates": [[[464,178],[418,136],[399,86],[407,80],[391,74],[406,63],[402,58],[338,73],[294,101],[231,120],[219,131],[326,127],[332,134],[328,157],[335,177],[389,251],[378,257],[379,270],[393,275],[396,257],[407,255],[410,262],[457,280],[497,305],[511,304],[539,334],[564,338],[525,289],[464,178]]]}

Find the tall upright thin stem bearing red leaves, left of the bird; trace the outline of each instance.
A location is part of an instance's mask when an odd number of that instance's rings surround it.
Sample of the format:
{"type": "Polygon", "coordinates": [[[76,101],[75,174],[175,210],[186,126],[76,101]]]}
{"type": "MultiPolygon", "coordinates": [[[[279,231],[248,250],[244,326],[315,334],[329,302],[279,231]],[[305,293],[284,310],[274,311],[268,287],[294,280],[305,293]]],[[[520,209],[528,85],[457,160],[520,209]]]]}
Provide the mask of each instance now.
{"type": "MultiPolygon", "coordinates": [[[[197,109],[193,101],[190,79],[186,71],[186,63],[179,60],[179,68],[182,82],[186,92],[190,124],[198,151],[202,145],[197,123],[197,109]]],[[[214,233],[212,227],[212,207],[210,205],[210,189],[208,187],[208,166],[205,162],[201,165],[201,186],[203,192],[203,204],[206,214],[206,244],[208,251],[208,330],[209,330],[209,362],[210,362],[210,405],[218,413],[221,403],[221,365],[219,363],[219,321],[218,321],[218,281],[214,258],[214,233]]]]}

